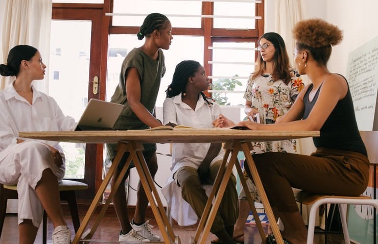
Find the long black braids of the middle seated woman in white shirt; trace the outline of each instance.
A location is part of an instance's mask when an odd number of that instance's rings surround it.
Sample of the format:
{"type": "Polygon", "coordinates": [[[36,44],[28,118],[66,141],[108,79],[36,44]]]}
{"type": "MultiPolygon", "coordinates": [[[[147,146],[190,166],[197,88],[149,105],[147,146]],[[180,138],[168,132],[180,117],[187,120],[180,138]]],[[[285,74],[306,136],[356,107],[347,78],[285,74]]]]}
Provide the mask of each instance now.
{"type": "MultiPolygon", "coordinates": [[[[187,81],[190,77],[195,76],[200,66],[201,64],[194,60],[184,60],[177,64],[173,74],[172,83],[166,90],[167,97],[177,96],[181,92],[184,94],[187,81]]],[[[201,95],[208,105],[212,105],[212,102],[215,101],[211,97],[207,97],[202,91],[201,95]]]]}

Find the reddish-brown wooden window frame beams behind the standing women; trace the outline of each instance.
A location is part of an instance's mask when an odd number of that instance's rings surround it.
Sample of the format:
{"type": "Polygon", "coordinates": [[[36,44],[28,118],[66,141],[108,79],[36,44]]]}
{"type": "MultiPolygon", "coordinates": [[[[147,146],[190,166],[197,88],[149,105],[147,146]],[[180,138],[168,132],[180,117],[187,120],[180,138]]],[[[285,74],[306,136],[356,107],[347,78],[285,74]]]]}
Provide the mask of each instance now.
{"type": "MultiPolygon", "coordinates": [[[[261,3],[256,4],[255,16],[261,16],[261,19],[256,19],[255,29],[251,30],[229,30],[222,28],[213,28],[214,20],[212,18],[202,18],[201,28],[174,28],[173,35],[191,35],[191,36],[203,36],[204,37],[204,60],[203,65],[207,71],[208,76],[212,76],[212,64],[208,61],[212,60],[212,50],[208,47],[216,41],[232,41],[232,42],[246,42],[251,41],[257,43],[258,38],[264,34],[264,5],[265,0],[261,0],[261,3]]],[[[133,26],[113,26],[112,16],[107,16],[105,13],[111,13],[113,9],[113,0],[104,0],[103,4],[75,4],[75,3],[53,3],[53,10],[58,8],[65,8],[67,11],[70,9],[82,9],[83,12],[87,9],[102,9],[103,17],[101,22],[101,39],[100,46],[100,76],[99,76],[99,99],[104,100],[106,96],[106,81],[107,81],[107,59],[108,59],[108,42],[110,34],[135,34],[139,31],[139,27],[133,26]]],[[[53,11],[54,12],[54,11],[53,11]]],[[[214,2],[202,2],[201,5],[202,15],[213,15],[214,14],[214,2]]],[[[54,18],[54,14],[53,14],[54,18]]],[[[257,57],[257,51],[256,51],[257,57]]],[[[210,82],[211,79],[210,79],[210,82]]],[[[207,92],[206,92],[207,93],[207,92]]],[[[210,95],[211,94],[208,94],[210,95]]],[[[99,189],[102,177],[103,177],[103,147],[99,144],[95,147],[96,151],[96,167],[89,167],[86,170],[90,172],[85,172],[88,176],[89,181],[95,182],[95,191],[88,192],[84,198],[92,198],[94,196],[93,192],[97,192],[99,189]]]]}

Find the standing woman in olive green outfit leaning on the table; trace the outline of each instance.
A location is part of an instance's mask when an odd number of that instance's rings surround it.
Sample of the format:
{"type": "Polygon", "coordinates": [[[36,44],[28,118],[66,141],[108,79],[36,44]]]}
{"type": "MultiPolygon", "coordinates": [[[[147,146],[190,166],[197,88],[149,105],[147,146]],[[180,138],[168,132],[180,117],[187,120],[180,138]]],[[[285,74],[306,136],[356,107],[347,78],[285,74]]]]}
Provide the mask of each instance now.
{"type": "MultiPolygon", "coordinates": [[[[122,63],[120,83],[115,88],[111,102],[125,105],[120,117],[113,129],[138,130],[161,126],[161,122],[155,117],[155,103],[160,87],[160,80],[166,72],[162,49],[168,50],[172,37],[172,25],[167,16],[160,13],[149,14],[140,27],[137,37],[145,43],[131,50],[122,63]]],[[[156,144],[143,144],[143,155],[152,177],[157,172],[156,144]]],[[[107,156],[112,161],[116,155],[117,144],[107,144],[107,156]]],[[[129,153],[126,152],[114,173],[112,188],[115,179],[118,178],[129,153]]],[[[130,168],[134,167],[131,163],[130,168]]],[[[151,230],[145,213],[148,199],[140,182],[137,189],[137,202],[134,218],[129,221],[126,204],[125,180],[129,176],[129,170],[115,192],[113,197],[114,209],[121,224],[120,241],[159,241],[160,237],[151,230]]]]}

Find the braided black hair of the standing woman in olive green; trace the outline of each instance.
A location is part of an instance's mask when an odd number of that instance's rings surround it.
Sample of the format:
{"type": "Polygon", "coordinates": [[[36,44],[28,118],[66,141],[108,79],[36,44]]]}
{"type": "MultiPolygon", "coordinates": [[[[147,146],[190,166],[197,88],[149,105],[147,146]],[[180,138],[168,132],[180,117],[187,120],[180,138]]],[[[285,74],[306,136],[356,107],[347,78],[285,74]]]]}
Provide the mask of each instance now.
{"type": "Polygon", "coordinates": [[[169,21],[166,15],[159,13],[152,13],[147,15],[143,21],[143,25],[139,28],[139,32],[136,34],[138,40],[143,39],[145,36],[148,36],[154,30],[160,30],[165,27],[166,22],[169,21]]]}

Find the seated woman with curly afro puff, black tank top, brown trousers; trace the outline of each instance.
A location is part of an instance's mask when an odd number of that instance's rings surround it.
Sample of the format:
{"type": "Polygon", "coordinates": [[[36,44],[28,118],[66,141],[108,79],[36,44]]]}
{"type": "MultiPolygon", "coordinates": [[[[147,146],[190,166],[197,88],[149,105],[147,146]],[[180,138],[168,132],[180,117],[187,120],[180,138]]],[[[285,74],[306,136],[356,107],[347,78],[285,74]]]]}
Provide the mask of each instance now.
{"type": "MultiPolygon", "coordinates": [[[[292,187],[319,194],[359,196],[367,187],[369,161],[357,127],[346,79],[327,69],[332,46],[342,40],[339,28],[321,19],[300,21],[293,29],[295,66],[310,85],[275,124],[242,121],[251,130],[320,131],[311,156],[270,152],[252,155],[286,242],[306,243],[307,230],[292,187]],[[288,241],[290,240],[290,241],[288,241]]],[[[275,243],[269,235],[267,243],[275,243]]]]}

